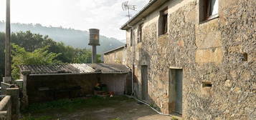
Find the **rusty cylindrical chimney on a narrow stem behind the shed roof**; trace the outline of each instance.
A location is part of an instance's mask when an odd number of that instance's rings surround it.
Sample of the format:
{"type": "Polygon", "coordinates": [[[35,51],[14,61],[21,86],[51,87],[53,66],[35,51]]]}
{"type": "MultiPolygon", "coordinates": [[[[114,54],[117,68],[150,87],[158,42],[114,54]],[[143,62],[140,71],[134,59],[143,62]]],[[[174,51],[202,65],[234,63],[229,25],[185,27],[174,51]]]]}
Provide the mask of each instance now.
{"type": "Polygon", "coordinates": [[[89,29],[90,31],[90,41],[89,46],[93,46],[92,51],[92,64],[97,63],[97,49],[96,46],[100,46],[100,30],[99,29],[89,29]]]}

